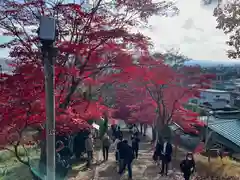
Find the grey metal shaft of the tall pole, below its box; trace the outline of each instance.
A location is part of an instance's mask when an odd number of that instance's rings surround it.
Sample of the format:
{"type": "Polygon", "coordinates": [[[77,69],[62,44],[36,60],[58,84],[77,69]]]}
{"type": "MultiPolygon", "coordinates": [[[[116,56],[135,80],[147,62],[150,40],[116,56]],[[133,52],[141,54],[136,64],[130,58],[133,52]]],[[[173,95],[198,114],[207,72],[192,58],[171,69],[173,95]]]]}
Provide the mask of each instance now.
{"type": "Polygon", "coordinates": [[[53,46],[43,47],[46,93],[47,180],[55,180],[55,98],[53,46]]]}

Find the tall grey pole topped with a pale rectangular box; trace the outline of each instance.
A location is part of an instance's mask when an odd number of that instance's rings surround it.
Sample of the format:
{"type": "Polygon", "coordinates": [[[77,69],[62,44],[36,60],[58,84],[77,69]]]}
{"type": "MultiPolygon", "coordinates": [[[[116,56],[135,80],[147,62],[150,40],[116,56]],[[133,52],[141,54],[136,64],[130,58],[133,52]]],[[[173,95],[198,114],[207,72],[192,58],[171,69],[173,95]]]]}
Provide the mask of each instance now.
{"type": "Polygon", "coordinates": [[[46,180],[55,180],[55,98],[54,98],[54,42],[57,36],[55,19],[40,17],[38,35],[42,43],[46,94],[46,180]]]}

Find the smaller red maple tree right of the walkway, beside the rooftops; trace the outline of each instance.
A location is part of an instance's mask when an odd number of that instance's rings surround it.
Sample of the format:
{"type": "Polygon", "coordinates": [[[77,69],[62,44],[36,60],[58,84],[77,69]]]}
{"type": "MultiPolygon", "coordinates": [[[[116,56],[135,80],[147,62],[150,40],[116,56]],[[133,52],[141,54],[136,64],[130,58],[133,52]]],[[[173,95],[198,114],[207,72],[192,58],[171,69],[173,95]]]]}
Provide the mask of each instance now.
{"type": "Polygon", "coordinates": [[[130,109],[129,121],[154,124],[159,131],[175,121],[186,131],[195,131],[191,124],[200,124],[198,114],[185,110],[183,105],[198,97],[199,89],[209,88],[214,76],[202,74],[199,67],[176,69],[150,57],[140,57],[139,64],[125,69],[129,80],[117,88],[119,103],[130,109]],[[132,71],[134,77],[129,76],[132,71]]]}

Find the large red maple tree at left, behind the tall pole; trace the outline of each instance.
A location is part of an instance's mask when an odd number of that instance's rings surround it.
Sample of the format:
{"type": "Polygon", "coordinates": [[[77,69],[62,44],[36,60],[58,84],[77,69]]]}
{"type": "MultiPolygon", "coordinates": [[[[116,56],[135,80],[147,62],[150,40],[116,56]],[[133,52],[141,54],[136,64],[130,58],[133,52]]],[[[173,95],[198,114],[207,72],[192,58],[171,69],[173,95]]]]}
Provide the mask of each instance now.
{"type": "Polygon", "coordinates": [[[87,120],[109,110],[100,100],[86,98],[79,89],[99,86],[116,72],[134,66],[134,51],[148,54],[149,39],[129,30],[146,24],[154,14],[177,12],[171,2],[152,0],[96,0],[92,4],[6,0],[1,6],[1,31],[12,38],[1,48],[10,49],[8,60],[13,69],[12,74],[1,76],[1,144],[13,144],[17,157],[23,131],[29,126],[44,127],[45,123],[44,76],[36,35],[39,15],[57,19],[56,125],[57,132],[69,133],[87,128],[87,120]]]}

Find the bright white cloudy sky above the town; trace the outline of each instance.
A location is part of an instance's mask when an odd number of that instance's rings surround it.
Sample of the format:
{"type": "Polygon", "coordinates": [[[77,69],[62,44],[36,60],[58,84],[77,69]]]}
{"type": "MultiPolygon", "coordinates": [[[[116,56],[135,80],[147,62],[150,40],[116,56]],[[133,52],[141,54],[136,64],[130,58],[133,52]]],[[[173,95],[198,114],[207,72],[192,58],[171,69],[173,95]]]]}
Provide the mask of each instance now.
{"type": "MultiPolygon", "coordinates": [[[[201,0],[176,0],[180,14],[175,17],[150,18],[150,29],[139,29],[152,38],[155,51],[171,48],[193,60],[228,62],[226,50],[227,36],[217,30],[213,9],[216,3],[204,6],[201,0]]],[[[213,0],[217,1],[217,0],[213,0]]],[[[6,38],[0,37],[0,42],[6,38]]],[[[0,50],[0,57],[6,57],[7,51],[0,50]]],[[[230,63],[235,63],[231,60],[230,63]]]]}

